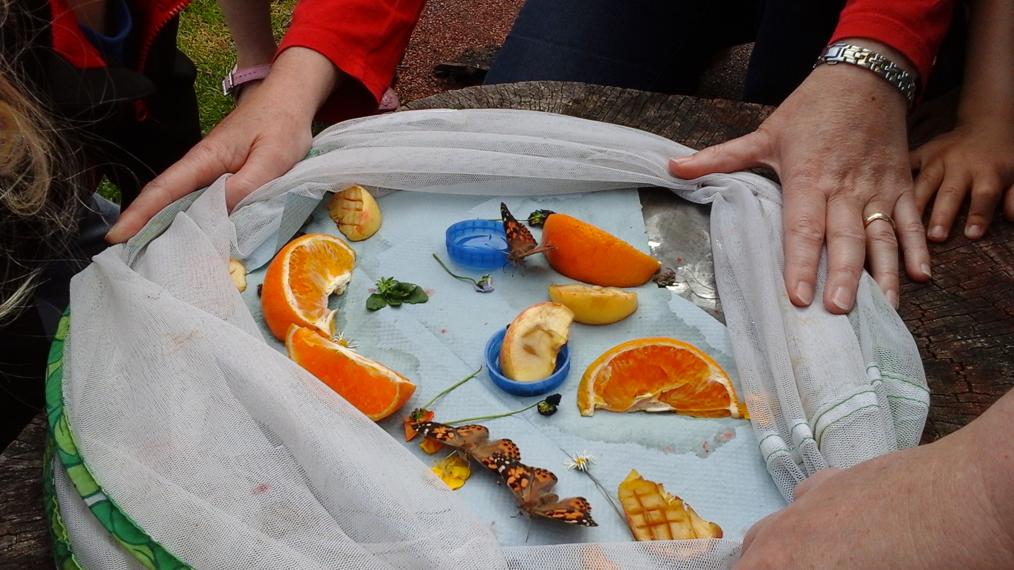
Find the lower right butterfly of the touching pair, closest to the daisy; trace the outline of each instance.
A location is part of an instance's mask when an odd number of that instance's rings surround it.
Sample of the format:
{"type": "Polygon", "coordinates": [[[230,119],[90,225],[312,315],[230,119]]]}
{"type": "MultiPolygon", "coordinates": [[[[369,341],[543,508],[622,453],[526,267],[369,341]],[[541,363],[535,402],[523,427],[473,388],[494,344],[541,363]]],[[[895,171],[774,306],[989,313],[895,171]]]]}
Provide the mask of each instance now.
{"type": "Polygon", "coordinates": [[[591,505],[584,497],[560,500],[550,491],[557,484],[557,476],[542,468],[528,467],[514,457],[496,453],[492,457],[496,471],[514,492],[521,510],[582,526],[598,526],[591,519],[591,505]]]}

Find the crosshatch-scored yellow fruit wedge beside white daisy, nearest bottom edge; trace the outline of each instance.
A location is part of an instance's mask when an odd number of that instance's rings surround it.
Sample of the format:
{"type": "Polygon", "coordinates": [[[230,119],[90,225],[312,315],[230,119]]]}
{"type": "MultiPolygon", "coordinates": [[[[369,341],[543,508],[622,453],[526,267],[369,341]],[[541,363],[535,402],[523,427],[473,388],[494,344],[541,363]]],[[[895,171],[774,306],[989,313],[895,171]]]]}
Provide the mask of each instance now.
{"type": "Polygon", "coordinates": [[[721,539],[722,528],[704,520],[660,483],[647,481],[631,470],[618,491],[627,524],[638,541],[721,539]]]}

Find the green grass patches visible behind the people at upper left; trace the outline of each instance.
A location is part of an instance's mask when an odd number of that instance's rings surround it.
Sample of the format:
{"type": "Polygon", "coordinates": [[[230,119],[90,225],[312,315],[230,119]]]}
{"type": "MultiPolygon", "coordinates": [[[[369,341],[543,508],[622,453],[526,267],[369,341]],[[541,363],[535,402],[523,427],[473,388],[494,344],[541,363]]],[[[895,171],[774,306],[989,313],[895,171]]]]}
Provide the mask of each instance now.
{"type": "MultiPolygon", "coordinates": [[[[271,5],[272,29],[281,41],[292,20],[296,0],[274,0],[271,5]]],[[[215,0],[194,0],[179,15],[179,49],[197,65],[197,102],[201,113],[201,133],[206,135],[232,111],[232,97],[222,94],[222,78],[232,69],[236,51],[225,25],[225,18],[215,0]]],[[[120,202],[120,189],[102,177],[100,196],[120,202]]]]}

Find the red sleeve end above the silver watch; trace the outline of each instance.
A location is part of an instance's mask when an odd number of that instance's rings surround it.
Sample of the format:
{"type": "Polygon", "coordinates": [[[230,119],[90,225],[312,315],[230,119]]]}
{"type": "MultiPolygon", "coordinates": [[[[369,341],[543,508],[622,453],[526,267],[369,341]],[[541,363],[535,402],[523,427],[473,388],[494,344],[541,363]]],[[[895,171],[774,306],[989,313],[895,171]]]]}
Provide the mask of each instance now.
{"type": "Polygon", "coordinates": [[[955,0],[849,0],[830,44],[868,38],[904,54],[926,86],[930,68],[950,27],[955,0]]]}

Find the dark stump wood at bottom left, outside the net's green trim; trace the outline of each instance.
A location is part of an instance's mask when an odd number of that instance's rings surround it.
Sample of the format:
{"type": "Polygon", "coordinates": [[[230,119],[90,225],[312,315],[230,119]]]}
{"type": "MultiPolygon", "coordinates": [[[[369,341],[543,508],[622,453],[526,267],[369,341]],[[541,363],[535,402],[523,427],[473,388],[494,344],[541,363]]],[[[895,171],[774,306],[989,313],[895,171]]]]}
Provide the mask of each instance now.
{"type": "Polygon", "coordinates": [[[53,548],[43,511],[46,415],[40,414],[0,454],[0,568],[52,568],[53,548]]]}

